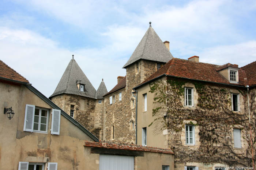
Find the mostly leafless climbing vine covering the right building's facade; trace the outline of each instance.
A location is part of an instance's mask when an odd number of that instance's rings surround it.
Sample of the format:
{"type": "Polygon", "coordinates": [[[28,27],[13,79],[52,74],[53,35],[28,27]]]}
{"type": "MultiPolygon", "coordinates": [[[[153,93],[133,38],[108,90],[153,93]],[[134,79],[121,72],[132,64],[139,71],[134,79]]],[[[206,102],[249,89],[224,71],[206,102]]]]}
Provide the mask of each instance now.
{"type": "MultiPolygon", "coordinates": [[[[150,92],[154,93],[155,118],[150,126],[154,127],[155,134],[168,129],[168,146],[171,149],[174,147],[176,163],[203,162],[252,166],[246,91],[174,78],[155,81],[150,84],[150,89],[150,92]],[[195,107],[184,106],[185,83],[195,87],[195,107]],[[231,110],[231,90],[236,90],[240,94],[241,112],[231,110]],[[197,129],[195,146],[188,147],[185,140],[181,139],[181,136],[185,135],[185,124],[192,124],[197,129]],[[241,129],[242,149],[234,148],[233,128],[241,129]]],[[[254,150],[255,91],[251,90],[249,94],[254,150]]]]}

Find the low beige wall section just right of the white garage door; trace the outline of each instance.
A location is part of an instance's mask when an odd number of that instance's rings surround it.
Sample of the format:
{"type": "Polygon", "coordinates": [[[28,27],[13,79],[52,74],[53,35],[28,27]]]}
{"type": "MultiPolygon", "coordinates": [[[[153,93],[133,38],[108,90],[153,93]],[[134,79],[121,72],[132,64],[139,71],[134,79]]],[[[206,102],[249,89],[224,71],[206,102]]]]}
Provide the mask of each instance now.
{"type": "Polygon", "coordinates": [[[144,152],[144,157],[135,157],[135,170],[161,170],[162,165],[169,165],[174,170],[173,154],[144,152]]]}

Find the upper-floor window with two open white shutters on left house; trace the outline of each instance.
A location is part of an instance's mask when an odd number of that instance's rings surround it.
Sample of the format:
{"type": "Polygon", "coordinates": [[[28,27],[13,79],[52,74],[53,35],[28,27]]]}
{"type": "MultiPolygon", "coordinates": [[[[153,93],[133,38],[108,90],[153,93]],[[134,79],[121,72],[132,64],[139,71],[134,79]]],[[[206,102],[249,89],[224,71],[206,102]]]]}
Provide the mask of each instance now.
{"type": "MultiPolygon", "coordinates": [[[[35,108],[34,105],[26,104],[23,130],[47,132],[48,117],[48,111],[45,112],[45,110],[35,108]]],[[[60,110],[57,109],[52,110],[51,134],[60,134],[60,110]]]]}

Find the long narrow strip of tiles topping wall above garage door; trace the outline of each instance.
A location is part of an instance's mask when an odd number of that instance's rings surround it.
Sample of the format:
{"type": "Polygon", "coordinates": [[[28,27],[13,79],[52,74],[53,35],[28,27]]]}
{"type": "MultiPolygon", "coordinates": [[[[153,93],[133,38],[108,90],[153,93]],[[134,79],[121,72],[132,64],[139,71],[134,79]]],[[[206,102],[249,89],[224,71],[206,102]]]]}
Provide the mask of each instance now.
{"type": "Polygon", "coordinates": [[[107,148],[107,149],[123,149],[123,150],[131,150],[131,151],[147,151],[147,152],[157,152],[157,153],[165,153],[165,154],[174,154],[170,149],[162,149],[158,147],[149,147],[149,146],[139,146],[127,143],[114,143],[108,141],[85,141],[84,146],[87,147],[99,147],[99,148],[107,148]]]}

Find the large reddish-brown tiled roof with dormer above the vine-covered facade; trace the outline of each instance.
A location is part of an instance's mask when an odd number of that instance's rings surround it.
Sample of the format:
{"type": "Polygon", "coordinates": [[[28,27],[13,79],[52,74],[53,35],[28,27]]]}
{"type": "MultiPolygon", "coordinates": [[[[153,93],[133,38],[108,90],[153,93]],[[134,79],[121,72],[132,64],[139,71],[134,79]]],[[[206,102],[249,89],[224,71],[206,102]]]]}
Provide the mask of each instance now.
{"type": "MultiPolygon", "coordinates": [[[[225,65],[228,65],[229,67],[232,66],[232,67],[238,68],[236,64],[229,65],[228,63],[225,65]]],[[[173,58],[141,84],[144,84],[154,78],[157,78],[158,76],[166,74],[166,75],[176,76],[180,78],[203,80],[207,82],[233,84],[238,86],[247,85],[246,74],[245,74],[245,71],[242,69],[238,70],[238,75],[239,75],[238,84],[230,83],[224,76],[222,76],[217,70],[219,70],[219,68],[226,67],[225,65],[219,66],[215,64],[200,63],[200,62],[194,62],[194,61],[189,61],[184,59],[173,58]]]]}

